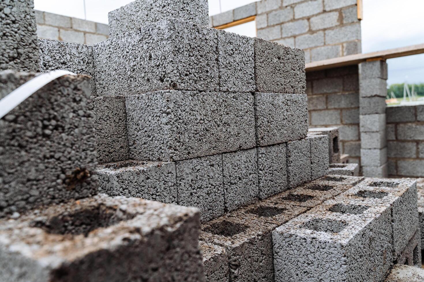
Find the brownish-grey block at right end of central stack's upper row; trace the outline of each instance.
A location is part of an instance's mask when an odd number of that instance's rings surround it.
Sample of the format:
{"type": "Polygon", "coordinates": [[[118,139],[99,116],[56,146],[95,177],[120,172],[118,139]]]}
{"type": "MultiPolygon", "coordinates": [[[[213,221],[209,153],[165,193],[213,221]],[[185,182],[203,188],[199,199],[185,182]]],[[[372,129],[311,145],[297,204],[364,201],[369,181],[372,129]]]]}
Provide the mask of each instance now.
{"type": "Polygon", "coordinates": [[[304,94],[304,52],[255,38],[256,91],[304,94]]]}

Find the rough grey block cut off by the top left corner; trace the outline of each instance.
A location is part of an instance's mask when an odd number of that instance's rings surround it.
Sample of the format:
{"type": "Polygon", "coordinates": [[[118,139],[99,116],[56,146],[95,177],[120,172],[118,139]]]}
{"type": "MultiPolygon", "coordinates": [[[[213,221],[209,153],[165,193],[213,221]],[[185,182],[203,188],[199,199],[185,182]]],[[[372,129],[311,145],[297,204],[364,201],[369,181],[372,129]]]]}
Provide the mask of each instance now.
{"type": "Polygon", "coordinates": [[[38,71],[38,44],[33,0],[0,3],[0,71],[38,71]]]}

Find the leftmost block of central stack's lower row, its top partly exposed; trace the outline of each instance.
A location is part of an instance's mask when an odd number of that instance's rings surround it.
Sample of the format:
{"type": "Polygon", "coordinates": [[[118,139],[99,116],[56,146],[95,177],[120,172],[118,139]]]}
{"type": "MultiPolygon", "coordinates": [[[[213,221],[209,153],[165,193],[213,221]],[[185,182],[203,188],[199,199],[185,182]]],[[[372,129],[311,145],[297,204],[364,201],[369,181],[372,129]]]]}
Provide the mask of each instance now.
{"type": "Polygon", "coordinates": [[[177,203],[175,163],[122,161],[97,169],[100,192],[109,196],[137,197],[177,203]]]}

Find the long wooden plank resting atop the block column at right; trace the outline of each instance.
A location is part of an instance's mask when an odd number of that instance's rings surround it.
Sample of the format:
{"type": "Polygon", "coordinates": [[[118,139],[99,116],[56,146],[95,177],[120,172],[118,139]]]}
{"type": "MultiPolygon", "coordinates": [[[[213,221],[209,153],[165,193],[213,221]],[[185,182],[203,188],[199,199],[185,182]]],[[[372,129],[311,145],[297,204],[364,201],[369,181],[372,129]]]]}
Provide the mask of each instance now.
{"type": "Polygon", "coordinates": [[[388,60],[418,54],[424,54],[424,44],[307,63],[305,69],[306,71],[319,71],[327,68],[357,65],[367,60],[388,60]]]}

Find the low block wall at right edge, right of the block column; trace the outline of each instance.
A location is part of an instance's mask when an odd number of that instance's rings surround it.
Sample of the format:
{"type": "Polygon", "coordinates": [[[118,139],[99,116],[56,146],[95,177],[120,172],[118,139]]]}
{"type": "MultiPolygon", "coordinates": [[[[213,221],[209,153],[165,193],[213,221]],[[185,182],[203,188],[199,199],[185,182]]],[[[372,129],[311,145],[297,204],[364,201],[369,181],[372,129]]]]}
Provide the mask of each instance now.
{"type": "Polygon", "coordinates": [[[424,176],[424,105],[386,109],[388,174],[424,176]]]}

